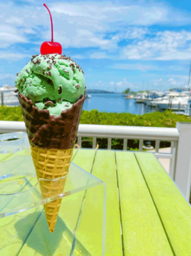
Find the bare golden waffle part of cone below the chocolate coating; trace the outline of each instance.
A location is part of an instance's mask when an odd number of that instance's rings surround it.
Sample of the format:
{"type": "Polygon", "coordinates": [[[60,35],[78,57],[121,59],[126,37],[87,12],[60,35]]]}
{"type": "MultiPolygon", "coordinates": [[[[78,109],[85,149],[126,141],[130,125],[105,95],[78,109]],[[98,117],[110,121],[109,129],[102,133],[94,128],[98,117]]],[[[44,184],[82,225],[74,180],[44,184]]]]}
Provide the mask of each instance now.
{"type": "MultiPolygon", "coordinates": [[[[35,165],[35,171],[40,180],[42,198],[51,197],[63,193],[66,175],[72,158],[73,149],[40,149],[31,146],[31,155],[35,165]],[[58,179],[62,178],[63,179],[58,179]],[[46,180],[43,180],[46,179],[46,180]],[[52,181],[58,179],[57,181],[52,181]]],[[[55,229],[58,212],[62,199],[44,204],[49,232],[55,229]]]]}

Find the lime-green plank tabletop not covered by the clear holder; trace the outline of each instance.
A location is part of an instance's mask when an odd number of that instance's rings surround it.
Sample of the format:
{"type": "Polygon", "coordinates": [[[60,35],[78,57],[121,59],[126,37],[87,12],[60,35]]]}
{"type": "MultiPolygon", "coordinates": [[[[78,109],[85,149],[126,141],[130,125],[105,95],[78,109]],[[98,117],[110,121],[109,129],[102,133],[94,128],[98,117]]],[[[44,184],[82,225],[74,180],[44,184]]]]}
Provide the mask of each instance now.
{"type": "MultiPolygon", "coordinates": [[[[0,160],[5,156],[1,155],[0,160]]],[[[152,153],[81,149],[74,151],[72,161],[106,182],[106,256],[191,255],[190,204],[152,153]]],[[[64,207],[60,208],[60,214],[62,211],[64,207]]],[[[30,220],[36,230],[38,220],[44,218],[40,214],[30,220]]],[[[20,256],[62,255],[56,250],[48,253],[50,245],[46,244],[38,253],[27,250],[27,241],[35,239],[33,232],[29,230],[21,243],[24,234],[15,239],[6,229],[6,223],[4,227],[0,248],[3,239],[11,237],[14,243],[7,255],[18,255],[18,252],[20,256]]],[[[98,234],[92,235],[96,238],[98,234]]],[[[97,248],[97,240],[91,241],[92,247],[97,248]]],[[[0,255],[6,256],[1,251],[0,255]]]]}

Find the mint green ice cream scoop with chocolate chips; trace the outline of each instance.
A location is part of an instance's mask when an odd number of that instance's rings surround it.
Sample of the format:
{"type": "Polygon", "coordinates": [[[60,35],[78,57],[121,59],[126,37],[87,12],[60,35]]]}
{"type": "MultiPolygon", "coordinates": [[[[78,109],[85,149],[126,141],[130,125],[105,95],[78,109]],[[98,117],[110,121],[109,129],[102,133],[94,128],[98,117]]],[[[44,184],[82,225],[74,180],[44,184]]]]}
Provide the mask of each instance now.
{"type": "Polygon", "coordinates": [[[17,74],[19,93],[33,100],[40,110],[59,116],[85,93],[83,70],[70,57],[36,55],[17,74]]]}

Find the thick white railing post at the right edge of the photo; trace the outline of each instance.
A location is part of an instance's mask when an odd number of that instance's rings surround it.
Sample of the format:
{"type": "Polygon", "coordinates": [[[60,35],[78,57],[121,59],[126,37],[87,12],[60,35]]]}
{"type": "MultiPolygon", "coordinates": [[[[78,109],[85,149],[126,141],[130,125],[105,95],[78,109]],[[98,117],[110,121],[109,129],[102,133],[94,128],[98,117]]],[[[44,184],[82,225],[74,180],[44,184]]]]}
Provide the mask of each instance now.
{"type": "Polygon", "coordinates": [[[189,201],[191,186],[191,123],[178,122],[176,123],[176,128],[179,131],[179,140],[174,181],[189,201]]]}

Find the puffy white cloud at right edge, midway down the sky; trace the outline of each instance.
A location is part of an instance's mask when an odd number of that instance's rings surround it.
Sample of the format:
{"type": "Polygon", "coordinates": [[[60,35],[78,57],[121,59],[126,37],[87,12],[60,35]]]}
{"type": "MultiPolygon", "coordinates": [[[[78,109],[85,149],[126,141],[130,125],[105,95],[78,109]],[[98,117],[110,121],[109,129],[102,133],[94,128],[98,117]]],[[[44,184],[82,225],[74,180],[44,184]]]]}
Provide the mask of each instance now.
{"type": "Polygon", "coordinates": [[[191,33],[187,31],[157,32],[153,38],[140,40],[124,47],[122,58],[146,60],[190,59],[191,47],[188,43],[191,33]]]}

